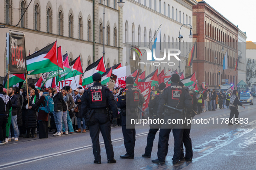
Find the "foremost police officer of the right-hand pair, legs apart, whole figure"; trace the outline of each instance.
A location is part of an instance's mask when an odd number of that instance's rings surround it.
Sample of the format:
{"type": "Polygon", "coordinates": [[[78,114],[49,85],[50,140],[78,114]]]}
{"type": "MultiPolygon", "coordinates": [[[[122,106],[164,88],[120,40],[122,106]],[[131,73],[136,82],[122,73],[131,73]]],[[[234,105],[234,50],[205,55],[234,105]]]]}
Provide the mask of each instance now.
{"type": "Polygon", "coordinates": [[[170,107],[175,107],[176,109],[190,109],[192,106],[192,98],[188,92],[188,89],[183,88],[178,84],[180,77],[178,74],[172,75],[171,86],[164,89],[160,96],[159,107],[157,114],[160,115],[165,111],[164,121],[159,132],[159,142],[158,142],[158,159],[152,160],[153,163],[164,164],[166,157],[166,146],[169,141],[169,134],[172,130],[174,137],[174,155],[173,164],[178,164],[181,156],[181,142],[183,137],[183,114],[170,109],[170,107]],[[167,107],[165,107],[167,105],[167,107]],[[171,120],[171,123],[168,123],[171,120]]]}

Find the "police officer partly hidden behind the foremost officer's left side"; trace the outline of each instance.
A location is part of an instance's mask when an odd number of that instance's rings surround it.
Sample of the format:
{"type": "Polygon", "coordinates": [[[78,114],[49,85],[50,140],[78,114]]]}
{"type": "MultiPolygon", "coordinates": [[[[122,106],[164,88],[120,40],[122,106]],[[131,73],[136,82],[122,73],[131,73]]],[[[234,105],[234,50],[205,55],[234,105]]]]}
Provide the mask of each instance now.
{"type": "MultiPolygon", "coordinates": [[[[156,95],[153,95],[151,100],[149,101],[149,115],[150,119],[162,119],[162,115],[157,115],[157,109],[159,106],[159,101],[160,101],[160,94],[162,94],[162,91],[166,87],[165,83],[161,83],[159,85],[158,91],[156,95]]],[[[145,154],[142,155],[142,157],[151,157],[151,152],[152,152],[152,147],[153,147],[153,142],[156,137],[156,132],[160,129],[161,124],[150,124],[150,129],[149,129],[149,134],[147,138],[147,146],[145,148],[145,154]]],[[[168,151],[168,145],[166,147],[166,153],[168,151]]]]}

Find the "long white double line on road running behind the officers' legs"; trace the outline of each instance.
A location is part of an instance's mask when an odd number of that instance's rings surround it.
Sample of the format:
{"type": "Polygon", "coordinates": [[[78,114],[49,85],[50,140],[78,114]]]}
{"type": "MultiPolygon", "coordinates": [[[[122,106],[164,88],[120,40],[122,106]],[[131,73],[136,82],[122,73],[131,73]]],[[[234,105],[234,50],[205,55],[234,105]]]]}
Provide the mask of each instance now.
{"type": "MultiPolygon", "coordinates": [[[[140,134],[137,134],[136,137],[144,136],[144,135],[147,135],[148,133],[149,132],[140,133],[140,134]]],[[[120,142],[120,141],[123,141],[123,138],[113,139],[112,143],[120,142]]],[[[100,146],[101,145],[104,145],[104,142],[100,142],[100,146]]],[[[87,146],[79,147],[79,148],[75,148],[75,149],[69,149],[69,150],[66,150],[66,151],[60,151],[60,152],[56,152],[56,153],[52,153],[52,154],[46,154],[46,155],[42,155],[42,156],[39,156],[39,157],[24,159],[24,160],[21,160],[21,161],[10,162],[10,163],[7,163],[7,164],[0,165],[0,170],[4,169],[4,168],[14,167],[14,166],[17,166],[17,165],[31,163],[31,162],[34,162],[34,161],[40,161],[42,159],[46,159],[46,158],[49,158],[49,157],[55,157],[55,156],[60,156],[60,155],[63,155],[63,154],[69,154],[69,153],[73,153],[73,152],[76,152],[76,151],[82,151],[82,150],[88,149],[88,148],[92,148],[92,145],[87,145],[87,146]]]]}

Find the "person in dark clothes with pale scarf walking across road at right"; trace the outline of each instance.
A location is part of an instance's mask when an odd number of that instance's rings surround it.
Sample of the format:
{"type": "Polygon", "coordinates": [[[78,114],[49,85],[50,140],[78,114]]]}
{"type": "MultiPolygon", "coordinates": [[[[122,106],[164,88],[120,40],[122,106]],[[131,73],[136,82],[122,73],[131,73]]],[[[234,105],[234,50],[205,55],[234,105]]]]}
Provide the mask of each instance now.
{"type": "Polygon", "coordinates": [[[233,94],[230,98],[230,116],[229,116],[229,123],[228,126],[233,126],[233,123],[235,123],[236,125],[240,125],[241,123],[239,122],[238,116],[239,116],[239,112],[238,112],[238,105],[242,106],[243,108],[244,105],[239,101],[238,99],[238,91],[237,90],[233,90],[233,94]],[[235,119],[233,119],[233,116],[235,115],[235,119]]]}

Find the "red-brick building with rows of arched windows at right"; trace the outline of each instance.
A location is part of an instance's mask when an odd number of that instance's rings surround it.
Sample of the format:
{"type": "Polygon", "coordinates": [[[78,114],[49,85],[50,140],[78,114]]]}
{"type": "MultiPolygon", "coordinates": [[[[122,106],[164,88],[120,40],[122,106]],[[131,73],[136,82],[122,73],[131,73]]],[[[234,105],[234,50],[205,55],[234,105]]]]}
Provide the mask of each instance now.
{"type": "Polygon", "coordinates": [[[237,80],[234,71],[237,60],[238,28],[204,1],[193,6],[193,39],[197,39],[197,57],[193,61],[198,83],[209,88],[222,85],[222,79],[230,84],[237,80]],[[221,42],[218,42],[221,41],[221,42]],[[223,70],[227,51],[228,69],[223,70]],[[218,76],[220,70],[220,76],[218,76]]]}

